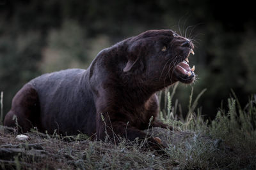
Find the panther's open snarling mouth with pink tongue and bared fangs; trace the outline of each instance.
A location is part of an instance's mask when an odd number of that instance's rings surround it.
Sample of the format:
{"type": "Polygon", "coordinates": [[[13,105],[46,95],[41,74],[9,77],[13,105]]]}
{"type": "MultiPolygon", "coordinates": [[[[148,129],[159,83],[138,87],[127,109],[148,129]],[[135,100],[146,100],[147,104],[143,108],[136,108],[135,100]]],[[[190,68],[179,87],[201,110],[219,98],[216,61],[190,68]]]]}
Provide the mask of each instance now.
{"type": "Polygon", "coordinates": [[[193,55],[195,54],[192,48],[190,48],[186,59],[184,59],[175,67],[174,73],[177,76],[178,80],[182,83],[192,83],[195,80],[195,66],[191,68],[188,64],[188,57],[190,53],[192,53],[193,55]]]}

